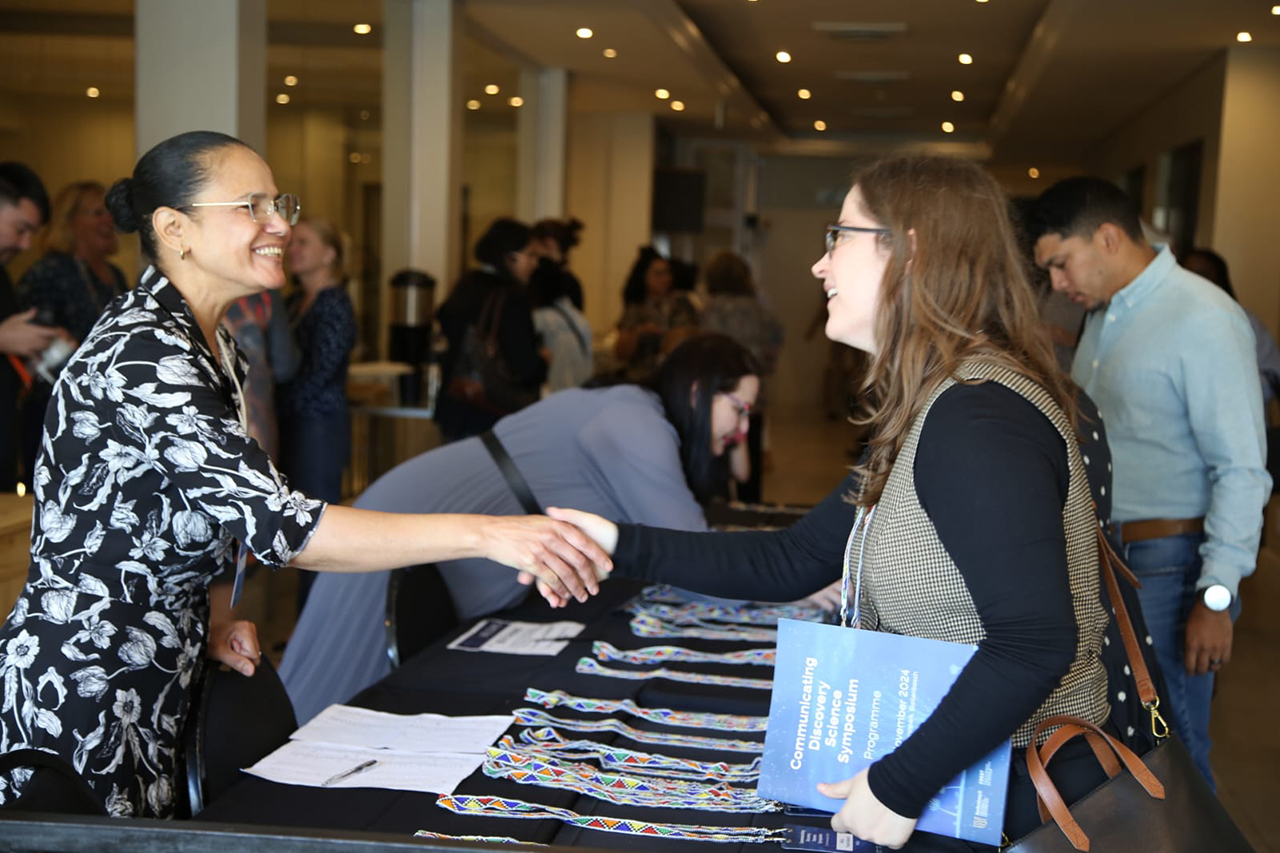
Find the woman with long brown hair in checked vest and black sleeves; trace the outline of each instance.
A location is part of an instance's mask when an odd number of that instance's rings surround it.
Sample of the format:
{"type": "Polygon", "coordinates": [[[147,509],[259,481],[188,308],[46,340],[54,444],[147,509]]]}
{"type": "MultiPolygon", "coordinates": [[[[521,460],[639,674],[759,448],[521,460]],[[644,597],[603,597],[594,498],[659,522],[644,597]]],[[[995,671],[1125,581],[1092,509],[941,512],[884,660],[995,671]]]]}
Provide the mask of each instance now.
{"type": "MultiPolygon", "coordinates": [[[[854,514],[874,507],[854,551],[860,628],[978,646],[895,752],[819,788],[845,799],[832,826],[891,848],[974,849],[913,835],[947,781],[1006,738],[1025,747],[1051,715],[1108,717],[1091,450],[1076,432],[1100,425],[1076,420],[1006,210],[995,179],[960,160],[891,159],[858,177],[813,273],[827,337],[870,353],[870,443],[792,528],[692,535],[548,511],[591,533],[622,574],[778,601],[826,584],[854,514]]],[[[1055,777],[1071,802],[1105,776],[1087,747],[1064,749],[1055,777]]],[[[1005,834],[1038,825],[1029,779],[1011,774],[1005,834]]]]}

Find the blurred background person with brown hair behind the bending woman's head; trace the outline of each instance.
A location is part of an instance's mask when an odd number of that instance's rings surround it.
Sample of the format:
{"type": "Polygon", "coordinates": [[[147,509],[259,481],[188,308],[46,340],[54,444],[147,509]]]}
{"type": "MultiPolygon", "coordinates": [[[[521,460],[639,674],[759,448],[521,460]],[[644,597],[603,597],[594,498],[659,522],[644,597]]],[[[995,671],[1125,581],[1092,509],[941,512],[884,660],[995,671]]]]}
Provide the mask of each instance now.
{"type": "Polygon", "coordinates": [[[778,364],[782,350],[782,323],[764,306],[751,278],[746,259],[736,252],[719,252],[707,263],[707,307],[701,328],[730,336],[755,356],[760,365],[760,394],[750,411],[751,428],[744,435],[745,471],[735,471],[737,500],[760,501],[764,474],[764,401],[768,378],[778,364]],[[745,476],[741,476],[745,474],[745,476]]]}

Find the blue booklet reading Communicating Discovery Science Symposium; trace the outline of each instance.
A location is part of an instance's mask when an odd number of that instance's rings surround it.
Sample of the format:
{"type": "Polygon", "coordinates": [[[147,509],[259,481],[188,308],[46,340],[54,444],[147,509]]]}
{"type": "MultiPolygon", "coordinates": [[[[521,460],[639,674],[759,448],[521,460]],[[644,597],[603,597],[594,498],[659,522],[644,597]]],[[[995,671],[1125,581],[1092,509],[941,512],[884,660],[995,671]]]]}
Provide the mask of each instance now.
{"type": "MultiPolygon", "coordinates": [[[[973,646],[778,620],[762,797],[826,812],[842,800],[819,781],[856,776],[938,707],[973,646]]],[[[1000,844],[1009,785],[1006,740],[938,792],[916,829],[1000,844]]]]}

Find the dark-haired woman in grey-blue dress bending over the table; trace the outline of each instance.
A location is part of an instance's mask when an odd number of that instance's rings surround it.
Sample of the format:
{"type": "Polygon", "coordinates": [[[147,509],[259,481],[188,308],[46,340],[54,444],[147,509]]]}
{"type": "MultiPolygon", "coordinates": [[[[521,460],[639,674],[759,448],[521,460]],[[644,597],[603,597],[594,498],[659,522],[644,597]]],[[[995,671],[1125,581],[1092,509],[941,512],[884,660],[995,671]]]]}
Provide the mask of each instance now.
{"type": "MultiPolygon", "coordinates": [[[[745,347],[723,334],[696,336],[672,350],[643,386],[561,391],[503,418],[494,433],[543,506],[705,530],[703,505],[728,479],[724,448],[746,430],[759,387],[745,347]]],[[[356,506],[521,511],[479,438],[397,465],[356,506]]],[[[439,570],[463,621],[511,607],[529,593],[513,573],[486,560],[449,560],[439,570]]],[[[300,721],[390,671],[387,584],[385,573],[317,579],[280,663],[300,721]],[[334,630],[338,624],[340,631],[334,630]]]]}

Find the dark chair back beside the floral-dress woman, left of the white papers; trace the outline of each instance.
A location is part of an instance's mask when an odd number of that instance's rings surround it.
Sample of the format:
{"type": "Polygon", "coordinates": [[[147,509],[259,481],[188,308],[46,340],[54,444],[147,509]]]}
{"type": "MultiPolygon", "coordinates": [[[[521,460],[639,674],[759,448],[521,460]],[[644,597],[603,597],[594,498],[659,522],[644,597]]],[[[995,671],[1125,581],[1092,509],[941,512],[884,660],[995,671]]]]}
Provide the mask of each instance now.
{"type": "Polygon", "coordinates": [[[252,678],[207,661],[183,731],[192,816],[284,744],[298,727],[293,703],[265,657],[252,678]]]}

